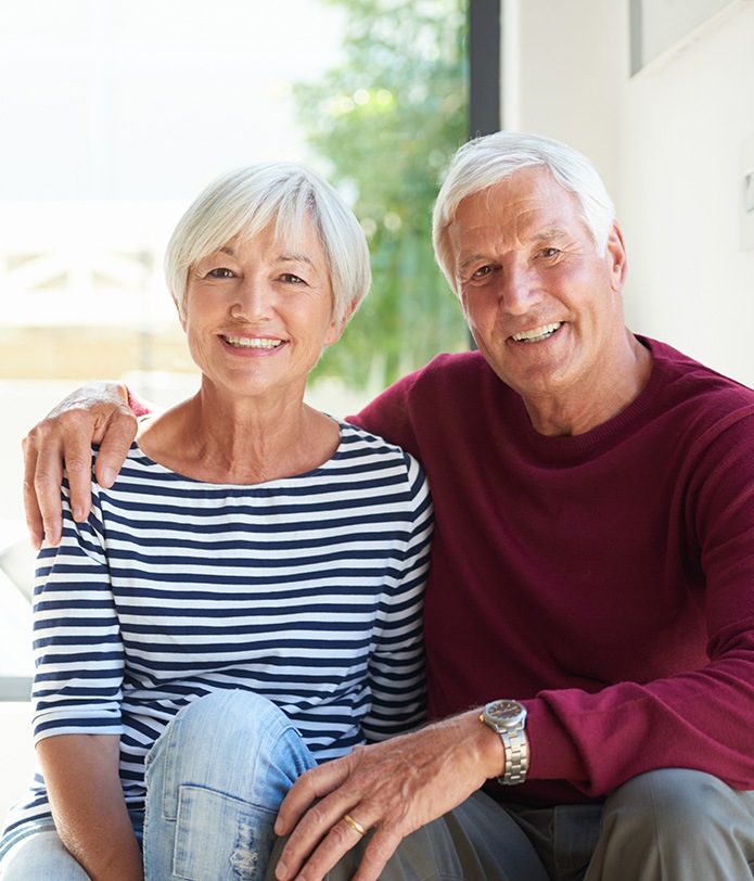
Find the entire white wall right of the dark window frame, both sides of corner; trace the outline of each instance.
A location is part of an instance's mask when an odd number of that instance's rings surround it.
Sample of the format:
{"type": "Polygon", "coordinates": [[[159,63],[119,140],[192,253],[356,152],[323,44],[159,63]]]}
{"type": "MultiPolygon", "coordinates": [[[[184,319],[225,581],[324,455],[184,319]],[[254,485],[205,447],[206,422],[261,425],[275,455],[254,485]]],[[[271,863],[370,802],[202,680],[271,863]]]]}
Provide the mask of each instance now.
{"type": "Polygon", "coordinates": [[[582,150],[615,200],[632,330],[754,385],[754,250],[739,243],[754,0],[634,77],[628,0],[503,0],[502,52],[503,126],[582,150]]]}

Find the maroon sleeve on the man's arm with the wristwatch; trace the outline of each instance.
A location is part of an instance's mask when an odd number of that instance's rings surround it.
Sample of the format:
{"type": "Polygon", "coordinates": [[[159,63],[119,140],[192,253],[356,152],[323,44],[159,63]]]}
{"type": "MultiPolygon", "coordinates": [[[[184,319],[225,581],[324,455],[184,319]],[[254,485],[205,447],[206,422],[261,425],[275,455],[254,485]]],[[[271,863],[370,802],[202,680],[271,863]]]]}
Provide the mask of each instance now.
{"type": "Polygon", "coordinates": [[[683,570],[703,586],[708,663],[525,701],[534,779],[601,796],[643,771],[687,767],[754,789],[754,416],[718,429],[700,438],[685,475],[683,570]]]}

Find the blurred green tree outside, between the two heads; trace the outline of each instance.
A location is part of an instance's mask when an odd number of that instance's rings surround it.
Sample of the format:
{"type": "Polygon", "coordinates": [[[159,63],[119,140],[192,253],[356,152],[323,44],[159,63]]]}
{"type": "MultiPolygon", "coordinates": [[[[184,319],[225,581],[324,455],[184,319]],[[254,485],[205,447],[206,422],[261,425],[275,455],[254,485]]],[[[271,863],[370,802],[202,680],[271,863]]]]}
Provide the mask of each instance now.
{"type": "Polygon", "coordinates": [[[343,63],[294,98],[367,234],[373,284],[318,374],[382,387],[468,346],[431,239],[442,171],[467,140],[467,0],[323,2],[345,14],[343,63]]]}

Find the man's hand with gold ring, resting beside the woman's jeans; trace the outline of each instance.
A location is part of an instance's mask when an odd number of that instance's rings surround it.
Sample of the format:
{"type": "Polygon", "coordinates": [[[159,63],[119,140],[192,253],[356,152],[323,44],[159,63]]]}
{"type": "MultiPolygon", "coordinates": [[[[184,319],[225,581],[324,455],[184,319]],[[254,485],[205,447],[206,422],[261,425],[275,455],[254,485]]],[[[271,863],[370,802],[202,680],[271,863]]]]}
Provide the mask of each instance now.
{"type": "Polygon", "coordinates": [[[320,881],[361,840],[361,826],[375,831],[354,878],[374,881],[401,839],[457,807],[503,765],[502,742],[476,711],[312,768],[280,807],[274,831],[291,838],[276,877],[320,881]]]}

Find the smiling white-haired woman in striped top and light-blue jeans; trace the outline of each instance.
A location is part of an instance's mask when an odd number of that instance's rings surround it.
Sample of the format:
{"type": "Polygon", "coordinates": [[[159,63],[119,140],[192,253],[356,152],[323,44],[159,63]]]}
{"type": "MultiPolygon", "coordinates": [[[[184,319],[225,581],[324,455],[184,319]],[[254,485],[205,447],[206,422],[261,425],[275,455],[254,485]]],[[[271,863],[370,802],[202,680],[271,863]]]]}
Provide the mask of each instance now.
{"type": "Polygon", "coordinates": [[[422,719],[423,472],[304,403],[370,284],[356,218],[253,166],[191,205],[166,274],[201,387],[40,551],[41,776],[3,881],[263,877],[303,770],[422,719]]]}

